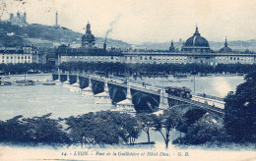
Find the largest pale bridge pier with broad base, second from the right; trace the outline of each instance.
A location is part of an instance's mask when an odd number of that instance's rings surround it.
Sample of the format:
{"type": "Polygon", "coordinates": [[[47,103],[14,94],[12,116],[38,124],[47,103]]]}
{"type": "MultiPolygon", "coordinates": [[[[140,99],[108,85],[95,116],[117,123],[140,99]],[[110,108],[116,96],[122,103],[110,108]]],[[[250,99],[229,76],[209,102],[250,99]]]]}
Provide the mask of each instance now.
{"type": "Polygon", "coordinates": [[[132,102],[132,94],[129,82],[127,82],[126,99],[116,103],[116,111],[136,113],[134,104],[132,102]]]}

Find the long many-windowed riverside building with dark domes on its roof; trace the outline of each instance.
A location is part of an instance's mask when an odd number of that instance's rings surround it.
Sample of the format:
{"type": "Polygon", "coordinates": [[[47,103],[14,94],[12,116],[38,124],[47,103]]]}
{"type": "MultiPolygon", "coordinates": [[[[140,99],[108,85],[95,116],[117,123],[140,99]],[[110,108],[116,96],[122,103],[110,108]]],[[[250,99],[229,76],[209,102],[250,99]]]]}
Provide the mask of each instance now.
{"type": "Polygon", "coordinates": [[[183,44],[181,51],[176,51],[173,42],[169,50],[106,50],[94,47],[95,36],[88,24],[87,32],[82,36],[81,48],[60,46],[57,50],[57,65],[63,62],[120,62],[130,64],[206,64],[217,66],[218,64],[256,64],[255,53],[234,52],[227,47],[225,39],[224,47],[220,51],[213,51],[208,40],[201,36],[198,27],[193,36],[183,44]]]}

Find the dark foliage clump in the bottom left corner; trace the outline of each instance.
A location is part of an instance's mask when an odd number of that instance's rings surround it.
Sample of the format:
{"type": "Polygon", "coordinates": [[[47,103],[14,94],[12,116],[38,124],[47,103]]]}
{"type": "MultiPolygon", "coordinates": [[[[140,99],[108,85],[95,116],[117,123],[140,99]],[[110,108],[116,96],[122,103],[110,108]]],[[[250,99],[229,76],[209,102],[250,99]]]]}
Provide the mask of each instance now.
{"type": "Polygon", "coordinates": [[[51,114],[42,117],[22,119],[17,116],[0,123],[0,141],[23,144],[69,143],[59,121],[50,119],[51,114]]]}

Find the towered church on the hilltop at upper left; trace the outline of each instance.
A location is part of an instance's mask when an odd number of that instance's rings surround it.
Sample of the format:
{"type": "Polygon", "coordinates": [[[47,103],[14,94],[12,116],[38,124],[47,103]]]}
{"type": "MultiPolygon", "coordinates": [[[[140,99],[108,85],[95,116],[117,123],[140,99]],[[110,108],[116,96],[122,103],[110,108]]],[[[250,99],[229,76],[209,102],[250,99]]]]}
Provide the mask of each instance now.
{"type": "Polygon", "coordinates": [[[27,27],[29,26],[27,22],[27,13],[24,14],[17,12],[17,15],[14,16],[14,14],[10,14],[10,18],[8,20],[12,25],[19,26],[19,27],[27,27]]]}

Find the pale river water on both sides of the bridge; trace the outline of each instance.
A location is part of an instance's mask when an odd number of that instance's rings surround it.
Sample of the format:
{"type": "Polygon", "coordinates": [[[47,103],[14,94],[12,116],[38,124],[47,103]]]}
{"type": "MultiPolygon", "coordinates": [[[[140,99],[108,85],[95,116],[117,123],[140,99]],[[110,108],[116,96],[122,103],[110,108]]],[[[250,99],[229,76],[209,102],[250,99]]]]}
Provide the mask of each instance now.
{"type": "MultiPolygon", "coordinates": [[[[11,80],[23,80],[24,77],[11,77],[11,80]]],[[[50,75],[28,76],[28,80],[51,80],[50,75]]],[[[194,88],[194,78],[162,79],[143,78],[138,82],[155,85],[187,86],[194,88]]],[[[196,92],[224,97],[243,77],[196,77],[196,92]]],[[[95,104],[94,97],[84,97],[80,93],[70,92],[59,85],[42,85],[37,82],[31,86],[0,86],[0,120],[11,119],[17,115],[24,117],[41,116],[52,113],[52,118],[77,116],[88,112],[114,109],[113,105],[95,104]]]]}

